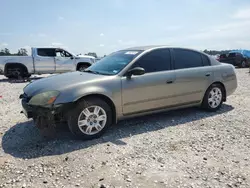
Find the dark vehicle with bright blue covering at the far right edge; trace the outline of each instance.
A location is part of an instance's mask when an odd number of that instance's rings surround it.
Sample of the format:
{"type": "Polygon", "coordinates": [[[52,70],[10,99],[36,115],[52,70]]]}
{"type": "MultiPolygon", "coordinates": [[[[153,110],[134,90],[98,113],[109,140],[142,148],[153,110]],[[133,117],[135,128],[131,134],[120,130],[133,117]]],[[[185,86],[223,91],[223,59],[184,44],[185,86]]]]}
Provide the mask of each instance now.
{"type": "Polygon", "coordinates": [[[219,57],[219,61],[245,68],[250,65],[250,51],[234,50],[229,52],[228,54],[221,54],[219,57]]]}

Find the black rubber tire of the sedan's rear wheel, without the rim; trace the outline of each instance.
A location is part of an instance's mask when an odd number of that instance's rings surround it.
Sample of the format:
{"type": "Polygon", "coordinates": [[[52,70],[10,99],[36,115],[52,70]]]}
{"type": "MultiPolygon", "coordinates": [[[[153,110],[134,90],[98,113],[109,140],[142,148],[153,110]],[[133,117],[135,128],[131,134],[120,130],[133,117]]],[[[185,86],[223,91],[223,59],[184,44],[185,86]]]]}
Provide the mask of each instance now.
{"type": "Polygon", "coordinates": [[[202,105],[201,107],[207,111],[210,111],[210,112],[215,112],[217,110],[219,110],[221,108],[221,105],[223,103],[223,99],[225,98],[225,91],[224,91],[224,88],[223,86],[221,86],[220,84],[212,84],[206,91],[204,97],[203,97],[203,101],[202,101],[202,105]],[[218,104],[218,106],[216,107],[212,107],[212,104],[211,102],[209,102],[209,98],[211,97],[211,94],[210,92],[212,90],[214,90],[215,88],[218,88],[220,91],[221,91],[221,100],[218,104]]]}

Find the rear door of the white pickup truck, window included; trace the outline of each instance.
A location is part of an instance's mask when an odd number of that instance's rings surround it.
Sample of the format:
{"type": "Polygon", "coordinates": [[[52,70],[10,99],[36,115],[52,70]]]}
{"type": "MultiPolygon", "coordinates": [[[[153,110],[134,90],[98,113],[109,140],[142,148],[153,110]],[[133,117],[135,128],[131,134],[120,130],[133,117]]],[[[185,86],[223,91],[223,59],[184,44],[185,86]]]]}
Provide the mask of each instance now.
{"type": "Polygon", "coordinates": [[[36,55],[33,56],[36,73],[55,72],[55,49],[37,48],[36,55]]]}

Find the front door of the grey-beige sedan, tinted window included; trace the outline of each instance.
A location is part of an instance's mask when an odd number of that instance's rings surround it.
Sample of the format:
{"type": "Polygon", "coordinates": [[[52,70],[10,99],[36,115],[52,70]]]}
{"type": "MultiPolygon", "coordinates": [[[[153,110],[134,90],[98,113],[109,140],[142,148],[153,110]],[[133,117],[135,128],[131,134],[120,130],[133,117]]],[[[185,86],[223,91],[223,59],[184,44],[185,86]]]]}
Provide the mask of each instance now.
{"type": "Polygon", "coordinates": [[[169,49],[157,49],[143,55],[131,67],[142,67],[145,74],[122,77],[123,114],[157,110],[173,104],[175,73],[171,70],[169,49]]]}

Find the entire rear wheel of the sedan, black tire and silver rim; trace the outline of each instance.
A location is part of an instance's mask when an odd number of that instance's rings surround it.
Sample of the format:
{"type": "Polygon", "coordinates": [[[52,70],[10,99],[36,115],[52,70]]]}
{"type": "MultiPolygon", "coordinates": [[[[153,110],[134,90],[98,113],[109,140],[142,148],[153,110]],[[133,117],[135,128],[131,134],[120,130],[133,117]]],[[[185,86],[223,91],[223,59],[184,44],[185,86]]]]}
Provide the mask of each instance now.
{"type": "Polygon", "coordinates": [[[217,111],[223,103],[225,93],[220,84],[211,85],[203,98],[202,107],[208,111],[217,111]]]}

